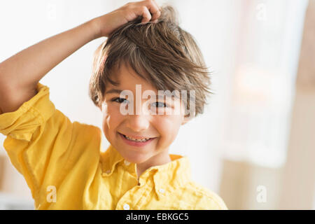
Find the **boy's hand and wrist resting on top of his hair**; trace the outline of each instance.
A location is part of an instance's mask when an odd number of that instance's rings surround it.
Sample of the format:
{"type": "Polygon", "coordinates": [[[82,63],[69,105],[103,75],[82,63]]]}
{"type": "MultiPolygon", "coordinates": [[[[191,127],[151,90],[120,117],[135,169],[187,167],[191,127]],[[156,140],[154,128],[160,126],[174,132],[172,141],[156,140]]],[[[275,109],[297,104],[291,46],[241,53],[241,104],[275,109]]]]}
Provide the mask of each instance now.
{"type": "Polygon", "coordinates": [[[109,36],[112,31],[124,25],[127,22],[142,17],[141,22],[157,22],[160,17],[160,7],[155,0],[145,0],[130,2],[125,4],[111,13],[94,18],[94,22],[98,27],[98,36],[109,36]]]}

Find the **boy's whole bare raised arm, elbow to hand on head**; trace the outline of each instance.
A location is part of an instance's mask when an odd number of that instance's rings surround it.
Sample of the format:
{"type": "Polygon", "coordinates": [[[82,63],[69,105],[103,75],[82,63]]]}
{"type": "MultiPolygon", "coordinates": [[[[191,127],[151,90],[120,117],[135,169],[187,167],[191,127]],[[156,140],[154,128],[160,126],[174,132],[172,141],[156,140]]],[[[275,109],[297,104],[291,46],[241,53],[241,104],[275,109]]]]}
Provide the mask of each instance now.
{"type": "Polygon", "coordinates": [[[47,38],[0,63],[0,111],[16,111],[34,97],[36,85],[48,71],[86,43],[142,16],[155,21],[160,8],[154,0],[127,3],[111,13],[47,38]],[[151,17],[151,13],[153,16],[151,17]]]}

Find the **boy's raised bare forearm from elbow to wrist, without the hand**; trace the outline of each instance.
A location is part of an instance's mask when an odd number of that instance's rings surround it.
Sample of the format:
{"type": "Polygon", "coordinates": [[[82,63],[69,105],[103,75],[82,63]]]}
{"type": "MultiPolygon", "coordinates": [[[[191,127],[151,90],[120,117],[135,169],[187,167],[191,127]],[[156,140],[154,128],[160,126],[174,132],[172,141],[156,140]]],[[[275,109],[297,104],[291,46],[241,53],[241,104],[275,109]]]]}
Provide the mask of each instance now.
{"type": "Polygon", "coordinates": [[[38,81],[48,71],[98,37],[93,21],[46,38],[0,63],[0,108],[3,113],[18,109],[34,95],[38,81]]]}

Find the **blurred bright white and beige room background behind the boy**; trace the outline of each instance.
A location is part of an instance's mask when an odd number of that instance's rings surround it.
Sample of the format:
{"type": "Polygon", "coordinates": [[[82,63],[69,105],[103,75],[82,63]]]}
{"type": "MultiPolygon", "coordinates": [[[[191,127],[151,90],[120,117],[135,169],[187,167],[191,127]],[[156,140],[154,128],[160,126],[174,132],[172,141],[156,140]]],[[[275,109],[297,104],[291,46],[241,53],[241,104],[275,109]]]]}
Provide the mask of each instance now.
{"type": "MultiPolygon", "coordinates": [[[[0,62],[125,0],[0,1],[0,62]]],[[[213,72],[204,114],[183,125],[170,153],[229,209],[315,209],[315,0],[169,0],[213,72]]],[[[92,55],[80,48],[41,83],[71,121],[101,128],[88,97],[92,55]]],[[[0,209],[34,209],[3,149],[0,209]]],[[[104,149],[108,141],[104,138],[104,149]]]]}

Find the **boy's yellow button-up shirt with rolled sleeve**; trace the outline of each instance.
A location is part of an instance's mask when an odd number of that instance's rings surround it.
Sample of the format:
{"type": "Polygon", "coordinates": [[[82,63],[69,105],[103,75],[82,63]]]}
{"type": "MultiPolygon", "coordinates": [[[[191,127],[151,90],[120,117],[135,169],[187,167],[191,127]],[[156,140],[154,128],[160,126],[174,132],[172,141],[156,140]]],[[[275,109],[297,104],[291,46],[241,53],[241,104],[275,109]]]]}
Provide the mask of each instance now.
{"type": "Polygon", "coordinates": [[[188,158],[147,169],[138,182],[137,165],[109,146],[102,131],[73,122],[55,109],[49,88],[17,111],[0,115],[4,148],[25,177],[35,209],[227,209],[225,203],[190,178],[188,158]]]}

